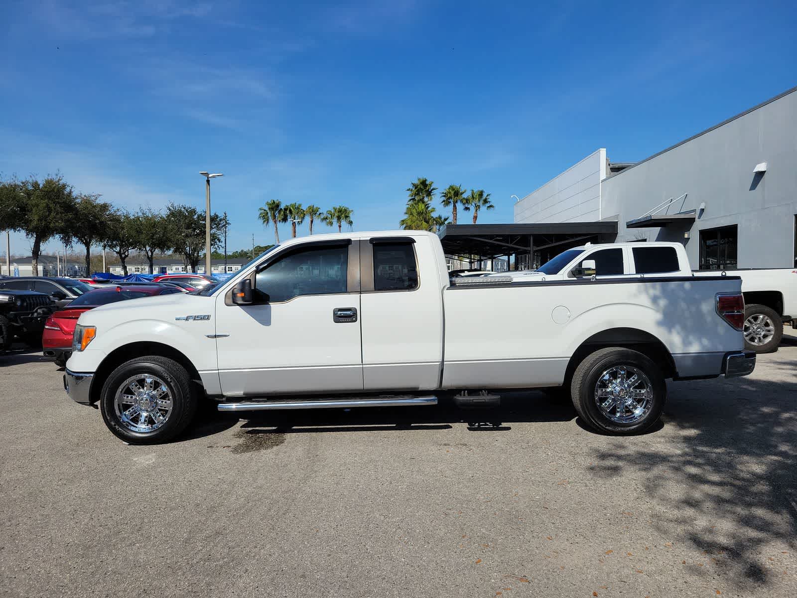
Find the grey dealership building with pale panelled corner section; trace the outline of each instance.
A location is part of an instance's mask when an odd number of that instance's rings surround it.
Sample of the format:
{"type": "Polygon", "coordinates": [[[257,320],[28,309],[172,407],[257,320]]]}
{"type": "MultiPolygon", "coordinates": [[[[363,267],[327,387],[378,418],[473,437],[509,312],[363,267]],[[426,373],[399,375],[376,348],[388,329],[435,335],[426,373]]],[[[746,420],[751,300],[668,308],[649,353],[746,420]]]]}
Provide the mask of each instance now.
{"type": "Polygon", "coordinates": [[[528,228],[508,243],[519,268],[608,241],[682,242],[694,269],[797,268],[797,88],[641,162],[599,149],[520,199],[514,222],[497,226],[528,228]]]}

